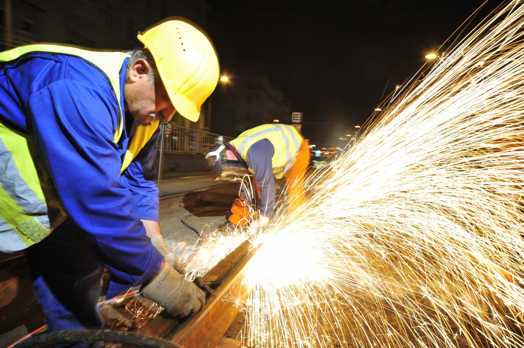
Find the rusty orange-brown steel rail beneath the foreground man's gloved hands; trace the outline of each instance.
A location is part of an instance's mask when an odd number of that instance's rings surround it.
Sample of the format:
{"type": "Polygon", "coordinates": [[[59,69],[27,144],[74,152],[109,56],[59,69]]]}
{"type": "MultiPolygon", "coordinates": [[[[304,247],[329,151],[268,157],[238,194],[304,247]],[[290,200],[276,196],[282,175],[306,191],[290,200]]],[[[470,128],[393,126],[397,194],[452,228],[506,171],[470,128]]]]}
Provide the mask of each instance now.
{"type": "Polygon", "coordinates": [[[187,348],[215,347],[249,295],[242,279],[247,263],[257,249],[245,241],[201,277],[203,281],[221,280],[222,284],[206,299],[204,308],[196,316],[180,322],[159,315],[140,333],[158,336],[187,348]]]}

